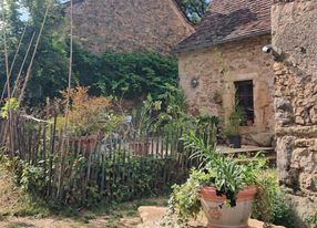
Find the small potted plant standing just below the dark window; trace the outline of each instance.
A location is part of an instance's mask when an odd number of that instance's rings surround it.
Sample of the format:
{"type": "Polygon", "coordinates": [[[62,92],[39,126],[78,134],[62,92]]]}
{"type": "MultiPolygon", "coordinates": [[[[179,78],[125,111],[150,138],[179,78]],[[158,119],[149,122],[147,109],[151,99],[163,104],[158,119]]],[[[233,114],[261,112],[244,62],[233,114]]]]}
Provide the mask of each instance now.
{"type": "Polygon", "coordinates": [[[236,102],[233,112],[229,115],[228,124],[225,127],[225,135],[233,148],[242,147],[241,126],[245,122],[245,112],[236,102]]]}

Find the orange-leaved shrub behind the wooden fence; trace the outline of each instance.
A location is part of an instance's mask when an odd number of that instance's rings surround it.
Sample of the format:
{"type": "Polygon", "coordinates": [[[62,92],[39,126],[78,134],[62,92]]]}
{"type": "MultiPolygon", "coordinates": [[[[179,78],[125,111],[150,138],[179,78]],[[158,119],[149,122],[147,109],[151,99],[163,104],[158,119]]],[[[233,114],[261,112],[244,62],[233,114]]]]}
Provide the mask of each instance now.
{"type": "Polygon", "coordinates": [[[68,90],[61,92],[59,104],[67,106],[69,103],[68,121],[67,113],[62,113],[58,116],[57,128],[64,131],[68,126],[67,131],[74,136],[74,142],[92,153],[98,139],[112,124],[109,121],[111,100],[105,96],[90,96],[88,92],[89,87],[79,85],[71,89],[70,93],[68,90]]]}

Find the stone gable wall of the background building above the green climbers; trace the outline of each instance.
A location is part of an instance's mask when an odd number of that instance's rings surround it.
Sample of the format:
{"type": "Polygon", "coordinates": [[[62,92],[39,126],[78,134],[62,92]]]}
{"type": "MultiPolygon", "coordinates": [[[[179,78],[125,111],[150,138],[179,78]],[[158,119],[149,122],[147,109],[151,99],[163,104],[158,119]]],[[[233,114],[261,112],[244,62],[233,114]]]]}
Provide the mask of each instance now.
{"type": "Polygon", "coordinates": [[[194,32],[175,0],[74,0],[73,19],[76,41],[95,53],[168,53],[194,32]]]}

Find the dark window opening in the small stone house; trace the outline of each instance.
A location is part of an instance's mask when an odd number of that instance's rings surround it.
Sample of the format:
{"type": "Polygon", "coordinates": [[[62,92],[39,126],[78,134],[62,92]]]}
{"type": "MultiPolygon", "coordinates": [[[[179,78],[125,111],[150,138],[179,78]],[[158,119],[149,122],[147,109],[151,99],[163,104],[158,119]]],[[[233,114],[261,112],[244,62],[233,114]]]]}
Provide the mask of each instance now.
{"type": "Polygon", "coordinates": [[[253,99],[253,81],[235,82],[236,102],[246,113],[245,125],[254,124],[254,99],[253,99]]]}

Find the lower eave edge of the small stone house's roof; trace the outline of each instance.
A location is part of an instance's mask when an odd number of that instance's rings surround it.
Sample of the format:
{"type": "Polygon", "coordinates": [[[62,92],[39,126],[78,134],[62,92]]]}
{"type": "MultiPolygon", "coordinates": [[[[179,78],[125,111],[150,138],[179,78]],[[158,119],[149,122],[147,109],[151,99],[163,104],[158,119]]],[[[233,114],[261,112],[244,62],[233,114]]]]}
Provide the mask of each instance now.
{"type": "Polygon", "coordinates": [[[196,43],[196,44],[187,45],[187,46],[184,46],[184,48],[177,48],[176,46],[176,48],[174,48],[172,50],[172,53],[178,54],[178,53],[183,53],[183,52],[191,52],[191,51],[195,51],[195,50],[198,50],[198,49],[212,48],[214,45],[224,44],[224,43],[228,43],[228,42],[233,42],[233,41],[239,41],[239,40],[244,40],[244,39],[247,39],[247,38],[254,38],[254,37],[259,37],[259,35],[265,35],[265,34],[272,34],[272,30],[253,32],[250,34],[237,35],[237,37],[229,38],[229,39],[224,39],[224,40],[216,40],[216,41],[196,43]]]}

